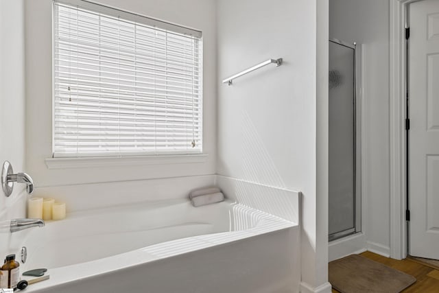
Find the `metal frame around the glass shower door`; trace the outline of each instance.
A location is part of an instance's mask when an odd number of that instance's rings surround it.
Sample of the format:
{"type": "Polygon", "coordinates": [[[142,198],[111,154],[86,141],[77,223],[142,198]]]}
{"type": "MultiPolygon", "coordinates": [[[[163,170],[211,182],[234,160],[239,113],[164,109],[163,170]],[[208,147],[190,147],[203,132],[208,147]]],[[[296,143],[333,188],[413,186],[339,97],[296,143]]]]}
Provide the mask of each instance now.
{"type": "Polygon", "coordinates": [[[328,235],[329,242],[353,235],[361,232],[361,45],[357,43],[347,43],[337,38],[329,38],[329,42],[337,45],[342,45],[354,50],[354,92],[353,92],[353,107],[354,107],[354,133],[353,133],[353,148],[354,148],[354,227],[348,230],[340,231],[328,235]]]}

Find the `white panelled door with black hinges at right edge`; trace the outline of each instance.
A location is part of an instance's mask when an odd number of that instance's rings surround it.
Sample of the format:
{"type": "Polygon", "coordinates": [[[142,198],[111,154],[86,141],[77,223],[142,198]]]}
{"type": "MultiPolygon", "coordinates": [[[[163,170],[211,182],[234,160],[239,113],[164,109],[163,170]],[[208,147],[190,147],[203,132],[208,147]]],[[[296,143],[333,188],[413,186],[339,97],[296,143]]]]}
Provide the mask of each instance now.
{"type": "Polygon", "coordinates": [[[439,0],[410,4],[409,253],[439,259],[439,0]]]}

